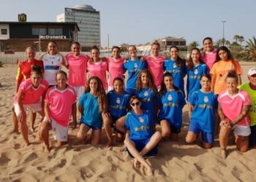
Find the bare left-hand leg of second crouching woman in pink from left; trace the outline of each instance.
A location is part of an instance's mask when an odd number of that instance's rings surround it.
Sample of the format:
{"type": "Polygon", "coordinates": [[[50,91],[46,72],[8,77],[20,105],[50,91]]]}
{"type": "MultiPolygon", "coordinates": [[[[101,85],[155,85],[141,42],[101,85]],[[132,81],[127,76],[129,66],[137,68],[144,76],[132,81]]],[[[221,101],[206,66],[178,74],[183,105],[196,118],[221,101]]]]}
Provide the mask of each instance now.
{"type": "Polygon", "coordinates": [[[49,143],[49,131],[52,130],[53,127],[51,124],[47,122],[42,122],[39,130],[40,138],[42,138],[42,141],[45,143],[45,149],[44,152],[49,153],[50,152],[50,143],[49,143]]]}

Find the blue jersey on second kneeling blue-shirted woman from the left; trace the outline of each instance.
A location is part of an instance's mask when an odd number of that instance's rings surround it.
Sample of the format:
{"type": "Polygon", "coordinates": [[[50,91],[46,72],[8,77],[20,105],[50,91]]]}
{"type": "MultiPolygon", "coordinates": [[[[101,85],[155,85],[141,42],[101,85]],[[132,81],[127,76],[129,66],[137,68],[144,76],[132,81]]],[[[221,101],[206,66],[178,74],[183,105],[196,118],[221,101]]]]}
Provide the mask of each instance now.
{"type": "Polygon", "coordinates": [[[108,92],[109,111],[114,120],[127,114],[130,95],[127,92],[116,94],[114,90],[108,92]]]}

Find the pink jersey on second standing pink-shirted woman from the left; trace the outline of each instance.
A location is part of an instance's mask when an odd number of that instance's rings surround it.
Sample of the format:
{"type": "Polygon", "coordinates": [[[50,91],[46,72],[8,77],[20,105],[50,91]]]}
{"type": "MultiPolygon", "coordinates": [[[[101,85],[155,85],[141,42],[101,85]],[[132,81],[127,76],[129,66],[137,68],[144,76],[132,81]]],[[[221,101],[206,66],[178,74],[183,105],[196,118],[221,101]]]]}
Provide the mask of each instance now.
{"type": "Polygon", "coordinates": [[[108,63],[100,60],[97,63],[88,63],[87,70],[89,71],[89,77],[97,76],[102,81],[104,90],[108,90],[106,71],[108,70],[108,63]]]}

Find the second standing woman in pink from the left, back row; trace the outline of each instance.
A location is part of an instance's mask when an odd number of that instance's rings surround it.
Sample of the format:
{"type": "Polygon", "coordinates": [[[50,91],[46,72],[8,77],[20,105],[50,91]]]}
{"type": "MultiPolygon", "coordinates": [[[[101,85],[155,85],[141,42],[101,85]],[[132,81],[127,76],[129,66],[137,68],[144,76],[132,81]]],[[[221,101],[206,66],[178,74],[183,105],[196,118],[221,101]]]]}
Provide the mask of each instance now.
{"type": "Polygon", "coordinates": [[[106,72],[108,71],[108,63],[102,61],[99,58],[99,48],[97,46],[93,46],[91,48],[91,57],[92,61],[88,63],[87,70],[89,71],[89,77],[97,76],[102,81],[103,88],[107,92],[108,91],[108,83],[106,72]]]}

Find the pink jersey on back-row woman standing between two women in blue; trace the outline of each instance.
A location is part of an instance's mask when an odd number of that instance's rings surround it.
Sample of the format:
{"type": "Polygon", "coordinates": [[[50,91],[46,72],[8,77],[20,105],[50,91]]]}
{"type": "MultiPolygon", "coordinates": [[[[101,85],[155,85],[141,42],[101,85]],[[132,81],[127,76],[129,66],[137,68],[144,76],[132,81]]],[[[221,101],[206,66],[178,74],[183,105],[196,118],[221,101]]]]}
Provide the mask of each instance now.
{"type": "Polygon", "coordinates": [[[145,57],[148,63],[148,70],[151,72],[154,78],[154,84],[157,88],[161,88],[162,76],[164,75],[164,62],[166,57],[159,55],[154,57],[153,55],[148,55],[145,57]]]}

